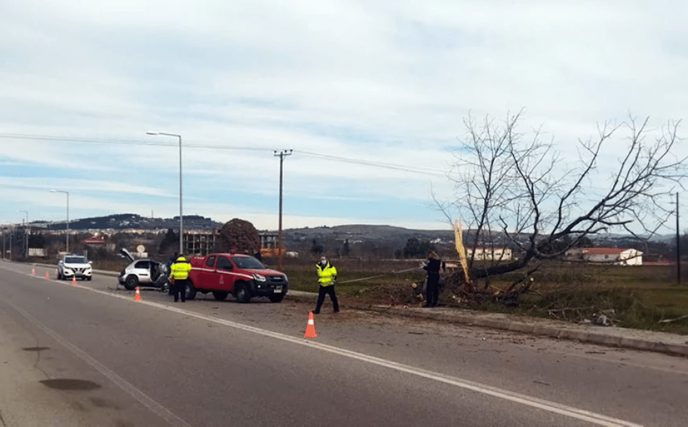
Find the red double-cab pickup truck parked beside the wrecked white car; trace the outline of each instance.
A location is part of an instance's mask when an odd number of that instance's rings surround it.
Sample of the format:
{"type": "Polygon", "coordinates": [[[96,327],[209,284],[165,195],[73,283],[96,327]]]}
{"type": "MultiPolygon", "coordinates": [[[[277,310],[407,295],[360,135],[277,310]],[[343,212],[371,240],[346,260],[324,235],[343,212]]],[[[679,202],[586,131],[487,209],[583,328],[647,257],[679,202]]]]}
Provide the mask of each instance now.
{"type": "Polygon", "coordinates": [[[289,290],[286,274],[267,268],[250,255],[209,253],[190,257],[189,262],[188,300],[193,300],[196,292],[213,292],[215,300],[222,301],[231,292],[239,302],[249,302],[252,297],[280,302],[289,290]]]}

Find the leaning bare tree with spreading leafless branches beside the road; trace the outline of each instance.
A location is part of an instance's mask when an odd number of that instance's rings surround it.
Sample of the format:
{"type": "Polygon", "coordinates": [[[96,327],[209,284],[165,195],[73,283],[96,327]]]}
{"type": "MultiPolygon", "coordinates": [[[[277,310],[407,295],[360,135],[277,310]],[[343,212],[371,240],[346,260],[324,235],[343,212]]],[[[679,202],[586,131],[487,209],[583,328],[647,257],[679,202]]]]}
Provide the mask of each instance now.
{"type": "MultiPolygon", "coordinates": [[[[605,123],[596,137],[577,142],[574,158],[540,130],[518,132],[520,122],[521,113],[503,122],[464,120],[467,136],[448,174],[454,201],[438,203],[450,222],[456,212],[467,228],[471,280],[532,271],[598,233],[655,233],[666,221],[667,194],[682,186],[687,172],[687,158],[674,153],[679,122],[660,130],[635,117],[605,123]],[[616,158],[608,157],[610,149],[616,158]],[[475,263],[471,249],[504,246],[518,257],[475,263]]],[[[530,280],[516,285],[525,291],[530,280]]]]}

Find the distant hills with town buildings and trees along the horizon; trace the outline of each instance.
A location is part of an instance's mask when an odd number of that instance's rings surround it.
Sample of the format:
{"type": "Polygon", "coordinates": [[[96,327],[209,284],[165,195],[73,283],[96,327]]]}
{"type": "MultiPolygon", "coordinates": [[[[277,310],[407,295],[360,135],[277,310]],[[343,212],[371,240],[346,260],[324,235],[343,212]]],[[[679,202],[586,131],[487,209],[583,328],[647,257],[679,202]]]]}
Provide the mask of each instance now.
{"type": "MultiPolygon", "coordinates": [[[[184,216],[184,223],[185,253],[205,255],[215,250],[222,223],[198,215],[184,216]]],[[[463,233],[463,240],[471,242],[471,230],[463,233]]],[[[146,218],[136,214],[83,218],[69,224],[35,221],[4,225],[1,235],[3,258],[16,260],[54,260],[64,253],[67,236],[71,242],[70,252],[85,253],[92,259],[114,256],[119,248],[127,248],[141,257],[169,255],[179,240],[178,217],[146,218]]],[[[263,256],[279,254],[277,231],[259,231],[259,236],[259,251],[263,256]]],[[[564,260],[642,265],[669,263],[676,259],[673,236],[659,236],[651,241],[631,236],[598,236],[584,243],[566,251],[564,260]]],[[[282,255],[289,258],[308,258],[320,253],[338,258],[423,258],[429,248],[446,258],[456,258],[453,230],[449,227],[446,230],[376,225],[292,228],[283,231],[281,248],[282,255]]],[[[506,261],[520,255],[517,246],[499,236],[492,242],[469,244],[466,251],[468,257],[475,257],[475,260],[506,261]]]]}

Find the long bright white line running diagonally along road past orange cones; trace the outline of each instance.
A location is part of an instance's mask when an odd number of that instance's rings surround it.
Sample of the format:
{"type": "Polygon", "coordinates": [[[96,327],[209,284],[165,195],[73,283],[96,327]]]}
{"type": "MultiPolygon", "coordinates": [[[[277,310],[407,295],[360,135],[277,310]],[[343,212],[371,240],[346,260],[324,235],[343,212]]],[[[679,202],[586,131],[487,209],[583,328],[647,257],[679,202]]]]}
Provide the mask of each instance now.
{"type": "MultiPolygon", "coordinates": [[[[31,274],[22,273],[28,275],[31,274]]],[[[45,280],[45,279],[44,279],[45,280]]],[[[68,283],[62,283],[63,285],[69,285],[68,283]]],[[[500,389],[498,387],[488,386],[487,384],[480,384],[478,382],[469,381],[467,379],[461,379],[456,376],[444,375],[439,372],[428,371],[426,369],[421,369],[417,367],[412,367],[411,365],[401,364],[397,362],[392,362],[391,360],[381,359],[379,357],[368,356],[367,354],[362,354],[358,352],[352,352],[347,349],[342,349],[339,347],[334,347],[328,344],[321,344],[318,342],[308,341],[303,338],[291,337],[286,334],[281,334],[279,332],[272,332],[269,330],[263,330],[258,327],[252,327],[248,325],[242,325],[241,323],[232,322],[230,320],[220,319],[218,317],[210,317],[206,315],[201,315],[199,313],[190,312],[188,310],[183,310],[177,307],[171,307],[169,305],[160,304],[158,302],[150,301],[134,301],[133,298],[125,297],[124,295],[116,295],[112,292],[107,292],[104,290],[97,290],[93,288],[87,288],[82,285],[69,285],[71,288],[80,288],[84,290],[90,290],[91,292],[100,293],[102,295],[107,295],[109,297],[119,298],[121,300],[130,301],[134,304],[148,305],[149,307],[156,307],[160,310],[167,310],[170,312],[176,312],[181,315],[186,315],[189,317],[195,317],[200,320],[205,320],[207,322],[217,323],[218,325],[224,325],[228,327],[233,327],[237,330],[243,330],[246,332],[253,332],[255,334],[260,334],[265,337],[271,337],[274,339],[280,339],[281,341],[291,342],[292,344],[303,345],[306,347],[312,347],[314,349],[320,349],[325,352],[330,352],[333,354],[338,354],[343,357],[350,357],[351,359],[360,360],[362,362],[367,362],[370,364],[375,364],[380,367],[386,367],[389,369],[394,369],[407,374],[412,374],[415,376],[421,376],[426,379],[432,379],[434,381],[439,381],[444,384],[450,384],[452,386],[461,387],[462,389],[468,389],[481,394],[488,394],[489,396],[498,397],[500,399],[505,399],[507,401],[512,401],[517,404],[523,404],[526,406],[531,406],[533,408],[539,408],[544,411],[549,411],[552,413],[558,413],[562,416],[568,416],[570,418],[576,418],[582,421],[588,421],[589,423],[596,424],[598,426],[605,427],[643,427],[641,424],[631,423],[629,421],[623,421],[618,418],[612,418],[605,416],[601,413],[595,413],[591,411],[586,411],[584,409],[574,408],[573,406],[568,406],[564,404],[557,404],[556,402],[547,401],[544,399],[538,399],[536,397],[527,396],[525,394],[515,393],[505,389],[500,389]]],[[[79,350],[81,351],[81,350],[79,350]]],[[[95,361],[94,361],[95,362],[95,361]]],[[[97,363],[97,362],[96,362],[97,363]]],[[[107,368],[105,368],[107,369],[107,368]]],[[[114,374],[114,372],[113,372],[114,374]]],[[[117,374],[114,374],[117,375],[117,374]]],[[[124,380],[122,380],[124,381],[124,380]]],[[[128,384],[128,383],[127,383],[128,384]]],[[[144,395],[145,396],[145,395],[144,395]]]]}

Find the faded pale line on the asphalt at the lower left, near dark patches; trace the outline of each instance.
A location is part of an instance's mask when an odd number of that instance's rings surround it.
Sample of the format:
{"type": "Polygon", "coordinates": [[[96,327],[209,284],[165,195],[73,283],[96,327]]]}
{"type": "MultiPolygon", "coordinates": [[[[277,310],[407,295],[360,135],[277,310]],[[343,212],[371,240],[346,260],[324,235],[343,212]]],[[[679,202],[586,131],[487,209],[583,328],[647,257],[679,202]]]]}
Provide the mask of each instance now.
{"type": "Polygon", "coordinates": [[[90,364],[91,367],[93,367],[93,369],[99,371],[103,376],[105,376],[105,378],[109,379],[114,384],[117,384],[117,386],[119,386],[120,389],[129,393],[134,399],[141,402],[141,404],[146,406],[146,408],[149,408],[153,413],[158,415],[160,418],[163,418],[163,420],[165,420],[171,426],[191,427],[191,425],[184,421],[182,418],[179,418],[174,413],[171,413],[167,408],[165,408],[161,404],[158,404],[158,402],[154,401],[150,396],[145,394],[143,391],[137,389],[136,386],[129,383],[129,381],[127,381],[126,379],[122,378],[122,376],[117,375],[114,371],[112,371],[112,369],[109,369],[104,364],[98,362],[96,359],[91,357],[90,354],[75,346],[67,339],[60,336],[60,334],[58,334],[57,332],[51,330],[49,327],[43,325],[41,322],[38,322],[38,320],[33,319],[31,315],[29,315],[21,308],[17,307],[16,305],[8,301],[4,301],[4,303],[14,308],[14,310],[21,314],[33,326],[42,330],[43,332],[45,332],[45,334],[48,334],[50,337],[55,339],[55,341],[62,344],[63,347],[68,349],[70,352],[72,352],[72,354],[74,354],[79,359],[82,359],[82,361],[86,362],[87,364],[90,364]]]}

